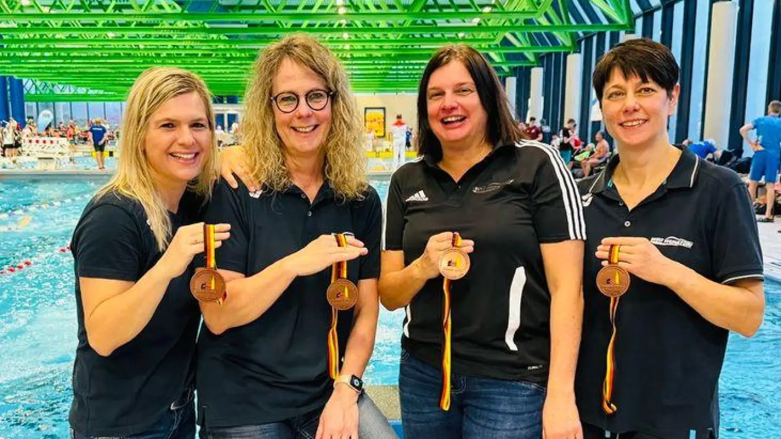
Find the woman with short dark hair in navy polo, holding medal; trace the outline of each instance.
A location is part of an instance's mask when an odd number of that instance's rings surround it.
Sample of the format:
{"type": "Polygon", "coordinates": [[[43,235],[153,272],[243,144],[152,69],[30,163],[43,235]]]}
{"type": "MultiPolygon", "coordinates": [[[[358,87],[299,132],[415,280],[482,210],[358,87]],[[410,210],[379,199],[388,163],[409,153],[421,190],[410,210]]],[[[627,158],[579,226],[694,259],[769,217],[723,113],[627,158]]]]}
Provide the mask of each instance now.
{"type": "Polygon", "coordinates": [[[746,187],[669,143],[678,71],[647,39],[616,45],[594,70],[620,154],[580,182],[589,231],[576,392],[587,438],[715,437],[729,331],[750,337],[762,321],[746,187]]]}

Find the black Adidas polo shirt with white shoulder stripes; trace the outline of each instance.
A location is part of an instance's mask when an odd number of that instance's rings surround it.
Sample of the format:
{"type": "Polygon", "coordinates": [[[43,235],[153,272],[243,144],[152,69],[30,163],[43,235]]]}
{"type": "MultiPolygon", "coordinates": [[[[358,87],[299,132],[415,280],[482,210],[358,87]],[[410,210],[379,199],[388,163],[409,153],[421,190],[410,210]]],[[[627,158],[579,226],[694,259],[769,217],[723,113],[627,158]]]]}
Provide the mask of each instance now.
{"type": "MultiPolygon", "coordinates": [[[[408,265],[434,234],[457,231],[475,241],[469,273],[451,286],[454,372],[547,381],[551,294],[540,244],[585,238],[576,191],[558,152],[537,141],[494,148],[458,182],[430,157],[394,173],[387,250],[403,250],[408,265]]],[[[426,282],[405,308],[401,339],[437,368],[442,300],[442,277],[426,282]]]]}

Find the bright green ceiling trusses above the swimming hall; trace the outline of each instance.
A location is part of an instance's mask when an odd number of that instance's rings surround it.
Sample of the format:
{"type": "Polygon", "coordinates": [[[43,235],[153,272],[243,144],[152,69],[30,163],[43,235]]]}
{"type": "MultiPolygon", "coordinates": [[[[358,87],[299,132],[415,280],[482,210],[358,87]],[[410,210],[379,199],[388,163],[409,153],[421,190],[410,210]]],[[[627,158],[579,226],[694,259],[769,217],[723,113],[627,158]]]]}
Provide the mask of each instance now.
{"type": "Polygon", "coordinates": [[[123,100],[149,66],[242,95],[259,50],[304,31],[342,59],[355,91],[414,92],[444,44],[473,45],[506,76],[575,51],[577,33],[633,28],[628,0],[590,0],[608,23],[576,23],[572,1],[0,0],[0,75],[27,79],[37,102],[123,100]]]}

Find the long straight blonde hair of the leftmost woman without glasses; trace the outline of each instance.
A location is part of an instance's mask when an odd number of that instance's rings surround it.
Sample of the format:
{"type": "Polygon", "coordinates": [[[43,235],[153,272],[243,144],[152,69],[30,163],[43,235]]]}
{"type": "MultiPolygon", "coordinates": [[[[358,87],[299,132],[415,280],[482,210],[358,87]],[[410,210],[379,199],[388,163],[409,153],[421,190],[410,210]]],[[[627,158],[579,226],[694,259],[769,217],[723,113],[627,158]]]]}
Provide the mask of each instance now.
{"type": "Polygon", "coordinates": [[[122,135],[119,137],[118,148],[121,156],[116,173],[97,195],[97,198],[100,198],[115,193],[134,198],[141,203],[161,252],[168,247],[173,230],[166,204],[155,189],[152,168],[144,152],[144,137],[152,115],[163,104],[171,98],[193,92],[198,93],[206,108],[212,141],[203,169],[198,177],[187,184],[187,191],[194,191],[204,200],[209,199],[212,185],[219,175],[211,94],[200,77],[173,67],[152,67],[141,73],[130,88],[122,120],[122,135]]]}

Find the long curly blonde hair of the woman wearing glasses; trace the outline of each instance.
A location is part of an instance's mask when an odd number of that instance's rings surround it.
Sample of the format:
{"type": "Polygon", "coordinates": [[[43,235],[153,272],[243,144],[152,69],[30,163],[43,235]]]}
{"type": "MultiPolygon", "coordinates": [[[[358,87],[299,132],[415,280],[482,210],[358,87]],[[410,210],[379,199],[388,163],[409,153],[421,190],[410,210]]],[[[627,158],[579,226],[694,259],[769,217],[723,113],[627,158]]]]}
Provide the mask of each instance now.
{"type": "Polygon", "coordinates": [[[241,121],[244,149],[252,172],[261,184],[274,191],[284,191],[291,185],[271,101],[273,80],[284,59],[312,70],[335,92],[330,101],[330,130],[321,147],[325,153],[323,175],[342,198],[362,198],[369,185],[366,152],[362,146],[364,128],[347,72],[328,48],[305,34],[291,34],[270,45],[252,66],[244,96],[246,113],[241,121]]]}

